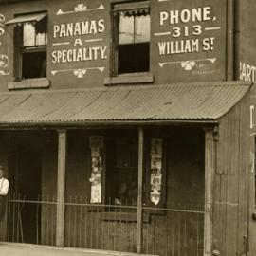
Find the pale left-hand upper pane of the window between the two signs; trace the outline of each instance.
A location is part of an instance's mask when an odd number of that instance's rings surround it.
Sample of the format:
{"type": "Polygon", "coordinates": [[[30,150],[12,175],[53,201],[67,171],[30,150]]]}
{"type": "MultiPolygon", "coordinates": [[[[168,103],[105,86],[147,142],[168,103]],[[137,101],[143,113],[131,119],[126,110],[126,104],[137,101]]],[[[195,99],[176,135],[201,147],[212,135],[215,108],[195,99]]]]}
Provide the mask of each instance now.
{"type": "Polygon", "coordinates": [[[119,44],[134,43],[134,16],[119,15],[119,44]]]}

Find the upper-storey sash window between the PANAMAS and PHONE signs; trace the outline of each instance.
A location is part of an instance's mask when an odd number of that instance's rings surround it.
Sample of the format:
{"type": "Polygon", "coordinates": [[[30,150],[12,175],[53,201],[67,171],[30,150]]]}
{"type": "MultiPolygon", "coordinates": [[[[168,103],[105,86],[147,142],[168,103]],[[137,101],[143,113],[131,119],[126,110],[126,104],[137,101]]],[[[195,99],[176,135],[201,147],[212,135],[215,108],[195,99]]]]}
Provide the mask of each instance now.
{"type": "Polygon", "coordinates": [[[115,73],[149,71],[150,9],[149,2],[114,6],[115,73]]]}

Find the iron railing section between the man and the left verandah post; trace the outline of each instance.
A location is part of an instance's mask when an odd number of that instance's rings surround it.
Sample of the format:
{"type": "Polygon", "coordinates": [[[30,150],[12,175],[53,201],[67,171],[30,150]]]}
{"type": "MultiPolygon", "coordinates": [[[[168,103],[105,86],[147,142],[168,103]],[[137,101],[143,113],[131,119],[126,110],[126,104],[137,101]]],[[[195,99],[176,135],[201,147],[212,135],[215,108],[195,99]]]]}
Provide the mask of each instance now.
{"type": "Polygon", "coordinates": [[[10,194],[7,200],[7,221],[1,227],[2,241],[55,246],[56,196],[27,199],[10,194]]]}

